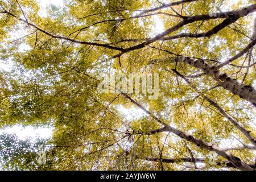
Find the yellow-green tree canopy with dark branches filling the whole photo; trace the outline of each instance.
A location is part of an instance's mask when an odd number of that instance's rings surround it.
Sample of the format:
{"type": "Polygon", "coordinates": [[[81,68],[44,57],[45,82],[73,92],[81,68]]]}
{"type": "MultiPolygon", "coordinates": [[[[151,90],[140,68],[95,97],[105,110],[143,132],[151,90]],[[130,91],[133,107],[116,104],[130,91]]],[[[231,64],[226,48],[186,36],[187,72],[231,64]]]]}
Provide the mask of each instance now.
{"type": "Polygon", "coordinates": [[[1,0],[0,127],[54,129],[1,135],[3,168],[255,170],[256,4],[232,2],[1,0]],[[99,93],[112,73],[158,73],[159,97],[99,93]]]}

